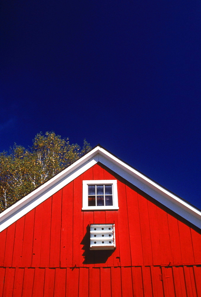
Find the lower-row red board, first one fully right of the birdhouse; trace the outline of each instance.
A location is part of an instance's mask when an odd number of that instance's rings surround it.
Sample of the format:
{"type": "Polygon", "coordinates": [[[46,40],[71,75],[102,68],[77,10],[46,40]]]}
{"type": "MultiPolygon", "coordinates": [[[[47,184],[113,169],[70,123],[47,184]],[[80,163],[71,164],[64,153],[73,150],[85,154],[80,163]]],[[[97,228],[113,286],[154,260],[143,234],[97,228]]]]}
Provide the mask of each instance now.
{"type": "Polygon", "coordinates": [[[121,267],[122,297],[133,297],[131,267],[121,267]]]}

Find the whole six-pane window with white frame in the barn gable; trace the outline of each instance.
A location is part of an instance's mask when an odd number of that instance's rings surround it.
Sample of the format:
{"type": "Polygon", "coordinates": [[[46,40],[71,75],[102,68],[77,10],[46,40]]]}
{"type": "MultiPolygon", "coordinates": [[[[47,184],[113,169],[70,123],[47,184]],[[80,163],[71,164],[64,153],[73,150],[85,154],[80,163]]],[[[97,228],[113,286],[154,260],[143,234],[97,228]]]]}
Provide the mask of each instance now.
{"type": "Polygon", "coordinates": [[[117,180],[83,181],[82,209],[119,209],[117,180]]]}

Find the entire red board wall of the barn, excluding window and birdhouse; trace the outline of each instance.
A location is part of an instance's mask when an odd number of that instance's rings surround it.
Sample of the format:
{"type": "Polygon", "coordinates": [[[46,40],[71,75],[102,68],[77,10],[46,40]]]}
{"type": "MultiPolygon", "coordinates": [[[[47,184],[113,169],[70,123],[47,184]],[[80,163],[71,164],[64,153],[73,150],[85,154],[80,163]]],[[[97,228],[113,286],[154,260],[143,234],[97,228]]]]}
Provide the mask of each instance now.
{"type": "Polygon", "coordinates": [[[0,233],[0,297],[199,297],[200,246],[190,223],[96,164],[0,233]],[[82,180],[96,179],[117,179],[118,211],[82,211],[82,180]],[[115,223],[114,251],[89,250],[93,223],[115,223]]]}

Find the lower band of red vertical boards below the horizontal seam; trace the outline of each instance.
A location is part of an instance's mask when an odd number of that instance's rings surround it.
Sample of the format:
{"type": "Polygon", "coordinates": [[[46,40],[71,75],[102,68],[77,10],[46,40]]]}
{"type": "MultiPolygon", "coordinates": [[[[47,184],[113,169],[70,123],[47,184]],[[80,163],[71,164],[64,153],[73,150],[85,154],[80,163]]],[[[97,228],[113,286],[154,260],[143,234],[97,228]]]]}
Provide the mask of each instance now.
{"type": "Polygon", "coordinates": [[[200,297],[201,266],[0,267],[3,297],[200,297]],[[197,285],[196,285],[197,284],[197,285]]]}

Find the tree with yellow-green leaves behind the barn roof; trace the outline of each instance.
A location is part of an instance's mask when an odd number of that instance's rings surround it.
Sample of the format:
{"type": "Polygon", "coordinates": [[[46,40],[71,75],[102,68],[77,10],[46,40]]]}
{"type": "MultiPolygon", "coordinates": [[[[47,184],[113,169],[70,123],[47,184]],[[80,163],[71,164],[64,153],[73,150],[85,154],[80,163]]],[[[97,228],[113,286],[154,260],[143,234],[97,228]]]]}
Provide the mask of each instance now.
{"type": "Polygon", "coordinates": [[[59,171],[87,153],[91,146],[84,139],[83,148],[70,144],[55,132],[38,133],[29,149],[23,146],[0,153],[0,212],[59,171]]]}

